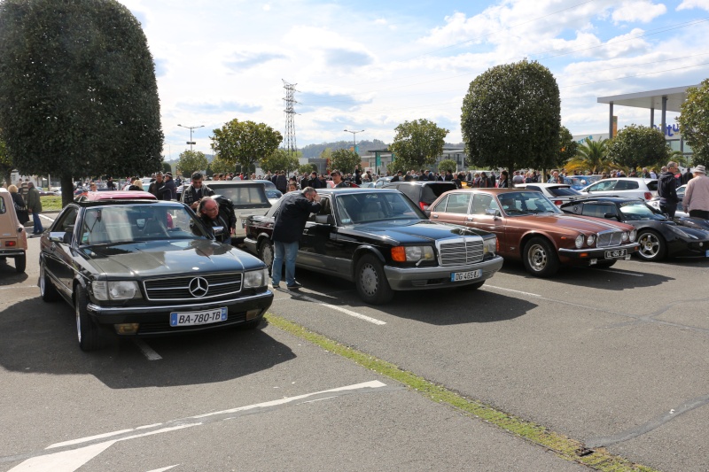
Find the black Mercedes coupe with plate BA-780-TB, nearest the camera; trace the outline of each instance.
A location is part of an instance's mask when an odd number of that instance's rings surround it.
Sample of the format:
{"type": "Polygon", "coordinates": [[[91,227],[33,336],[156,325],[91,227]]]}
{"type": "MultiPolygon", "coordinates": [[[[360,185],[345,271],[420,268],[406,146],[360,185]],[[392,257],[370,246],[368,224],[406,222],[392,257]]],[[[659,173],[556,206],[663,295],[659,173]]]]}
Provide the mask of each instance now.
{"type": "Polygon", "coordinates": [[[129,337],[255,328],[273,300],[263,262],[214,241],[179,202],[74,202],[40,246],[41,297],[74,306],[83,351],[99,348],[108,331],[129,337]]]}

